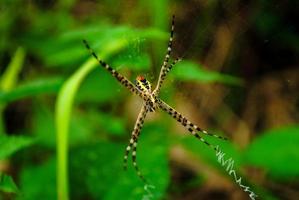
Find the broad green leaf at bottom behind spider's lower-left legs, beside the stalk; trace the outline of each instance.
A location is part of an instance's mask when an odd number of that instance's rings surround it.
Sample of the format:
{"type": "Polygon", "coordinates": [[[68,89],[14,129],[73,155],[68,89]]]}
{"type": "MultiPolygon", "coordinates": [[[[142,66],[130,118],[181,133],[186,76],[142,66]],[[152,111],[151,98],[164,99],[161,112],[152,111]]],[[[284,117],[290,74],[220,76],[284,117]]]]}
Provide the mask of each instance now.
{"type": "Polygon", "coordinates": [[[78,188],[73,191],[72,199],[86,198],[87,194],[91,199],[142,199],[149,196],[149,192],[151,199],[161,199],[169,181],[168,144],[164,132],[161,127],[146,125],[138,144],[139,168],[154,188],[144,190],[144,183],[133,169],[131,159],[128,170],[123,170],[127,142],[101,141],[84,145],[71,153],[70,183],[78,188]]]}

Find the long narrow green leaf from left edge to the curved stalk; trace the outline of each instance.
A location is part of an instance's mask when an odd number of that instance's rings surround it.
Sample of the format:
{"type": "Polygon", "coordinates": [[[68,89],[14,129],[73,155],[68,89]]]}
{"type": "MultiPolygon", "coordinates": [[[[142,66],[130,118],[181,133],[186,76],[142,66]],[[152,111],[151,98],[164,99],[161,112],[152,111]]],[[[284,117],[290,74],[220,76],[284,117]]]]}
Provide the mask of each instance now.
{"type": "Polygon", "coordinates": [[[39,94],[56,93],[62,85],[61,78],[30,81],[7,92],[0,92],[0,102],[12,102],[39,94]]]}

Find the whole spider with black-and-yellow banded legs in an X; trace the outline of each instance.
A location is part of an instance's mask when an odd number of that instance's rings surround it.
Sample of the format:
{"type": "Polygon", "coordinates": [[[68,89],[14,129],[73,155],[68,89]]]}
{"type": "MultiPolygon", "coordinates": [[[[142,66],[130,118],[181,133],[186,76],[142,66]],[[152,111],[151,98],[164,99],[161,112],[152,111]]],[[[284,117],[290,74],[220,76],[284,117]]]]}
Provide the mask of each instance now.
{"type": "Polygon", "coordinates": [[[198,132],[217,137],[219,139],[227,140],[224,137],[214,135],[211,133],[208,133],[205,130],[202,130],[200,127],[192,123],[190,120],[188,120],[184,115],[176,111],[174,108],[169,106],[167,103],[165,103],[162,99],[159,98],[159,92],[160,88],[165,80],[166,75],[171,70],[171,68],[179,62],[181,59],[177,58],[175,59],[171,64],[169,63],[169,58],[172,50],[172,43],[173,43],[173,35],[174,35],[174,15],[172,16],[172,23],[171,23],[171,31],[170,31],[170,37],[168,41],[168,47],[167,47],[167,53],[165,55],[161,71],[159,74],[158,83],[154,90],[152,90],[150,82],[144,77],[144,76],[137,76],[135,80],[135,85],[129,81],[125,76],[121,75],[119,72],[117,72],[115,69],[110,67],[106,62],[99,59],[96,53],[90,48],[89,44],[86,40],[83,40],[84,45],[89,50],[90,54],[99,62],[99,64],[104,67],[107,71],[111,73],[113,77],[115,77],[124,87],[129,89],[132,93],[135,93],[136,95],[140,96],[143,100],[142,108],[139,112],[139,115],[137,117],[137,120],[135,122],[135,126],[131,135],[130,142],[126,148],[125,156],[124,156],[124,169],[127,169],[127,161],[130,151],[132,150],[132,161],[133,166],[137,172],[137,175],[141,178],[142,181],[147,182],[144,176],[141,174],[137,162],[136,162],[136,152],[137,152],[137,143],[138,143],[138,137],[140,135],[144,119],[148,112],[155,112],[158,109],[161,109],[168,113],[171,117],[173,117],[175,120],[177,120],[180,124],[182,124],[193,136],[198,138],[200,141],[205,143],[207,146],[211,147],[217,152],[217,148],[208,143],[205,139],[203,139],[198,132]]]}

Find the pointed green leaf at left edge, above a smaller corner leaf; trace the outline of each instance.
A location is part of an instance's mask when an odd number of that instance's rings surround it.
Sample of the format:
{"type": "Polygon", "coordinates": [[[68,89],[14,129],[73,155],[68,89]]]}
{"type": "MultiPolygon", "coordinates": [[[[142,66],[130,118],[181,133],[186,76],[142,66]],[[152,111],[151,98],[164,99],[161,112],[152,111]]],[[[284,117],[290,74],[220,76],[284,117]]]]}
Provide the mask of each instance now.
{"type": "Polygon", "coordinates": [[[5,159],[33,143],[33,140],[24,136],[0,136],[0,160],[5,159]]]}

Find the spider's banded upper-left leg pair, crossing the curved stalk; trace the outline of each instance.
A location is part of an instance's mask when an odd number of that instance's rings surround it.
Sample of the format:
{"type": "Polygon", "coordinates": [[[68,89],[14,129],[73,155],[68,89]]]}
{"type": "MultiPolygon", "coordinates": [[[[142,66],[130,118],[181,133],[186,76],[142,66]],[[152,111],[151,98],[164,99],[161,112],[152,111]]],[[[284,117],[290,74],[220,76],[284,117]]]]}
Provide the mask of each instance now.
{"type": "Polygon", "coordinates": [[[132,93],[135,93],[139,95],[142,99],[146,100],[146,95],[141,92],[130,80],[128,80],[125,76],[121,75],[119,72],[117,72],[115,69],[110,67],[107,63],[100,60],[96,53],[90,48],[89,44],[86,40],[83,40],[83,43],[85,47],[88,49],[90,54],[98,61],[98,63],[104,67],[107,71],[111,73],[113,77],[115,77],[123,86],[125,86],[127,89],[129,89],[132,93]]]}

